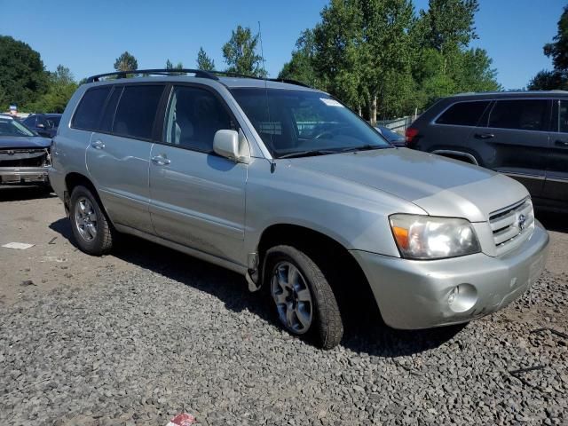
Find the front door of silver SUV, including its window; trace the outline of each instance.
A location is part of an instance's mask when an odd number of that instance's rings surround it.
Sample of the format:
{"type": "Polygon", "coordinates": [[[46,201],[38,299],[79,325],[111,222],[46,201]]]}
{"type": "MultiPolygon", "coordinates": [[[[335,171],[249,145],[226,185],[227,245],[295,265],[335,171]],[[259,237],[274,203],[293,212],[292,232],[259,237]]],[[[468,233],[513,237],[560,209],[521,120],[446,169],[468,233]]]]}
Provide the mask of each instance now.
{"type": "Polygon", "coordinates": [[[158,236],[245,264],[247,165],[213,153],[213,137],[224,129],[236,129],[236,121],[214,92],[172,88],[162,143],[150,156],[150,214],[158,236]]]}

